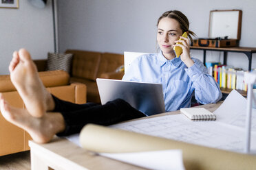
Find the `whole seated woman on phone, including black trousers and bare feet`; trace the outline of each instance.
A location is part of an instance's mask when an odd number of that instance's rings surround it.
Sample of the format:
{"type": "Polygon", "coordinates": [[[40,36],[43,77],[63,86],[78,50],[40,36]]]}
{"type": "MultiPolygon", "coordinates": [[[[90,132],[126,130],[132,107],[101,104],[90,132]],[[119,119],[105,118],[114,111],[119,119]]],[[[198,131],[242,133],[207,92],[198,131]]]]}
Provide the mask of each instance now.
{"type": "MultiPolygon", "coordinates": [[[[158,19],[160,53],[139,57],[123,77],[123,80],[162,83],[167,111],[189,107],[193,90],[196,99],[203,104],[216,102],[222,96],[202,62],[191,59],[189,39],[178,40],[183,32],[193,34],[189,31],[186,16],[178,11],[165,12],[158,19]],[[182,44],[176,45],[176,42],[182,44]],[[180,58],[174,56],[175,46],[183,49],[180,58]]],[[[10,106],[0,95],[1,112],[3,117],[26,130],[38,143],[47,143],[55,134],[67,136],[78,133],[87,123],[111,125],[146,116],[122,99],[101,106],[72,104],[54,97],[43,86],[25,49],[14,52],[9,70],[26,109],[10,106]]]]}

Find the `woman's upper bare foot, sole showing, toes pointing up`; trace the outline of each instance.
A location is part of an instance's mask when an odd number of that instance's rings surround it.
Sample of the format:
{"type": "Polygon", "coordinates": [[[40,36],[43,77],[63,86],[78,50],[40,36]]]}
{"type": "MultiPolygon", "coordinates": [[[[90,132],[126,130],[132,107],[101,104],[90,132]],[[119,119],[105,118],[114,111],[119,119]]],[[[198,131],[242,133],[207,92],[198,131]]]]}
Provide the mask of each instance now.
{"type": "Polygon", "coordinates": [[[33,117],[43,117],[49,108],[54,107],[52,96],[43,86],[28,51],[25,49],[20,49],[19,52],[14,51],[9,71],[12,83],[33,117]]]}

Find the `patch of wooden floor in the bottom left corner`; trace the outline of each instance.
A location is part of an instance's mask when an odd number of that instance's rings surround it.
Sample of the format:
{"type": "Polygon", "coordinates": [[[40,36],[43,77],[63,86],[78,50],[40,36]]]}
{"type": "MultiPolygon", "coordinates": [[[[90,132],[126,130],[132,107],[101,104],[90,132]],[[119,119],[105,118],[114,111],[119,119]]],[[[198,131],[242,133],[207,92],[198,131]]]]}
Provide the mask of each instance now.
{"type": "Polygon", "coordinates": [[[1,170],[30,170],[30,151],[0,156],[1,170]]]}

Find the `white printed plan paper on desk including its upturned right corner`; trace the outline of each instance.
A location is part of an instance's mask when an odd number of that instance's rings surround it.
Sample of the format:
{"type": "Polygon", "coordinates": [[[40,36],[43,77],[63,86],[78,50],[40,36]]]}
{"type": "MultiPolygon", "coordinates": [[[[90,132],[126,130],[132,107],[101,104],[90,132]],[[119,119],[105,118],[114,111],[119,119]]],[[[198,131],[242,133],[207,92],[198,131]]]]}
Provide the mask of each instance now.
{"type": "MultiPolygon", "coordinates": [[[[233,90],[214,112],[216,121],[191,121],[182,114],[154,117],[110,127],[170,138],[206,147],[242,152],[245,143],[246,99],[233,90]]],[[[253,109],[253,121],[256,114],[253,109]]],[[[256,151],[256,125],[252,123],[251,151],[256,151]]]]}

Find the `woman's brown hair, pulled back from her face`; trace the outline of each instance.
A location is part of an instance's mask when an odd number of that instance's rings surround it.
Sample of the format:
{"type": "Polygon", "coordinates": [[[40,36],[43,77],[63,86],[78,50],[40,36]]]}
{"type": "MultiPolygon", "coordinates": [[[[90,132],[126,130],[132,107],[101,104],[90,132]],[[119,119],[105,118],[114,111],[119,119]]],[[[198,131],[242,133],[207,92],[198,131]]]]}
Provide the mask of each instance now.
{"type": "Polygon", "coordinates": [[[189,32],[189,39],[191,41],[193,40],[191,35],[196,36],[194,32],[189,30],[189,20],[186,18],[186,16],[182,12],[178,10],[170,10],[170,11],[164,12],[164,14],[162,14],[162,16],[160,16],[160,18],[158,19],[158,24],[160,20],[165,17],[168,17],[170,19],[175,19],[176,21],[178,21],[178,23],[180,23],[180,28],[182,29],[182,34],[184,32],[189,32]]]}

